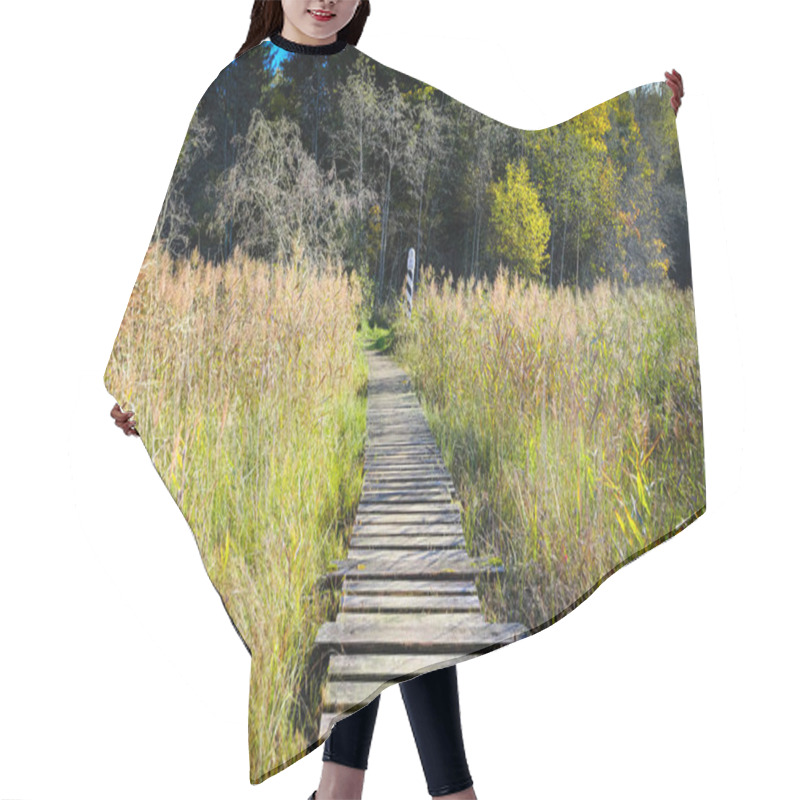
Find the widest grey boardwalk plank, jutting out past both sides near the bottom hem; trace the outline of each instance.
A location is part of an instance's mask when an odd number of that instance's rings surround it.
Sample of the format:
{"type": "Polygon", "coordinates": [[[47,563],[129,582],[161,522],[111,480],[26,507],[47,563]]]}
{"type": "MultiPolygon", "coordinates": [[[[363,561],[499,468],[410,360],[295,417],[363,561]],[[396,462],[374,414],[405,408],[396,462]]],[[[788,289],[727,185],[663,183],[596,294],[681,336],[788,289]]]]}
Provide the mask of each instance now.
{"type": "Polygon", "coordinates": [[[344,614],[323,622],[315,644],[345,654],[474,653],[525,638],[519,623],[487,623],[478,614],[344,614]]]}

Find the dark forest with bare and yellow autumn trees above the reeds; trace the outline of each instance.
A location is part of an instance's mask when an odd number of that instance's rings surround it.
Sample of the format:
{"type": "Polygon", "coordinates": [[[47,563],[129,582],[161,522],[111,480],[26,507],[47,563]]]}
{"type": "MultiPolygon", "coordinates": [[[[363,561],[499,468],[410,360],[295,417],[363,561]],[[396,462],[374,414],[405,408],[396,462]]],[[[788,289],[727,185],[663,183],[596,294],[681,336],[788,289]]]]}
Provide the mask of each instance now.
{"type": "Polygon", "coordinates": [[[153,239],[216,263],[341,261],[399,292],[409,247],[454,278],[691,285],[665,83],[541,131],[505,125],[348,48],[256,47],[204,94],[153,239]]]}

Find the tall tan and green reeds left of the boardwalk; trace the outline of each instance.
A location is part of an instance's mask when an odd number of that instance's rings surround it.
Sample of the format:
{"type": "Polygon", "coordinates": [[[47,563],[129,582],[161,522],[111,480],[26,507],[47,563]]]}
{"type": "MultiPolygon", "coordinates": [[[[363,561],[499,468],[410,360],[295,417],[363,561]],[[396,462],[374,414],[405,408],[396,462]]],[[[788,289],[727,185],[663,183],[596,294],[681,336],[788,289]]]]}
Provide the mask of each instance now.
{"type": "Polygon", "coordinates": [[[336,598],[315,582],[346,555],[361,492],[360,313],[358,279],[338,269],[154,247],[105,374],[251,650],[254,779],[319,724],[309,655],[336,598]]]}

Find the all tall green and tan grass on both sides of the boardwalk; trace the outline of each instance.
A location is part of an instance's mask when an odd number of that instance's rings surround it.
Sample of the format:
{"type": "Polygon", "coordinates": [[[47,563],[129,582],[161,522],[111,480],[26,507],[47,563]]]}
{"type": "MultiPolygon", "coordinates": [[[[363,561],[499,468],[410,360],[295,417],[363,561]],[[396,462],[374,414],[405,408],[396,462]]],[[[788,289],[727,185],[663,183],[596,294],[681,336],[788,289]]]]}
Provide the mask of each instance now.
{"type": "MultiPolygon", "coordinates": [[[[550,624],[705,506],[694,307],[671,286],[587,293],[422,282],[381,309],[339,269],[238,251],[215,268],[153,248],[105,373],[196,538],[252,656],[251,774],[317,737],[312,645],[361,493],[366,348],[411,376],[465,507],[497,557],[489,620],[550,624]]],[[[157,555],[157,554],[156,554],[157,555]]]]}

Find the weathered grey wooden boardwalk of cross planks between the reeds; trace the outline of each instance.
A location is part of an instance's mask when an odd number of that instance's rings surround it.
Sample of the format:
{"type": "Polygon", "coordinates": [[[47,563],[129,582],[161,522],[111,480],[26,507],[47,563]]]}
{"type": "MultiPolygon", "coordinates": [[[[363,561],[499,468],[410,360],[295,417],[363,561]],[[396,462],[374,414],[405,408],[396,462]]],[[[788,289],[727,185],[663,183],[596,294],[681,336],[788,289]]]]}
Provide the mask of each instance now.
{"type": "Polygon", "coordinates": [[[524,638],[488,623],[475,586],[461,504],[406,373],[368,352],[364,484],[342,580],[341,611],[315,646],[330,654],[320,736],[387,684],[524,638]]]}

